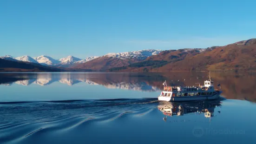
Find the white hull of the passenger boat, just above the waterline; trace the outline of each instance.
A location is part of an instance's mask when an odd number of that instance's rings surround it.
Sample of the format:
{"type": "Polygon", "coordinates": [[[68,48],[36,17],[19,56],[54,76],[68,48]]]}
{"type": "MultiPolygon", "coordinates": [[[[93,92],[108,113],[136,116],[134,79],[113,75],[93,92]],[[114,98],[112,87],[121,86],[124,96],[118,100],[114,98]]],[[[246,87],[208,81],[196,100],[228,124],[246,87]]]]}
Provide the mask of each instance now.
{"type": "Polygon", "coordinates": [[[164,97],[159,96],[158,100],[162,101],[193,101],[193,100],[210,100],[210,99],[218,99],[219,94],[215,94],[212,96],[186,96],[186,97],[164,97]]]}

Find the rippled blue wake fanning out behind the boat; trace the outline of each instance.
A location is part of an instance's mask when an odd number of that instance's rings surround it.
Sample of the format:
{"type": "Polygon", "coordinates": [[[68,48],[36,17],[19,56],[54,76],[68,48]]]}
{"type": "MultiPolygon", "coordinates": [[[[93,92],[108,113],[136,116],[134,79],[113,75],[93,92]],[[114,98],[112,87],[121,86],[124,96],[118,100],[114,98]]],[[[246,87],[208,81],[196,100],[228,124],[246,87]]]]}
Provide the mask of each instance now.
{"type": "Polygon", "coordinates": [[[0,102],[0,141],[26,143],[28,137],[119,121],[147,113],[156,98],[0,102]]]}

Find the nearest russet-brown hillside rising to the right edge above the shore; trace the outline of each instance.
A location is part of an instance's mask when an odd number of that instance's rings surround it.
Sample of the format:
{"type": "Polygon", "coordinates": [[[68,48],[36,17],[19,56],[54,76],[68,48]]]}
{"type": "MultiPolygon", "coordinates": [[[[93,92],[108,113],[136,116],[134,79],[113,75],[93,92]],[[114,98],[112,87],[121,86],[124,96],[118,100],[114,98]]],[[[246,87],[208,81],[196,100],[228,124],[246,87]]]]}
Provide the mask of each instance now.
{"type": "Polygon", "coordinates": [[[159,71],[256,70],[256,39],[220,46],[182,61],[160,67],[159,71]]]}

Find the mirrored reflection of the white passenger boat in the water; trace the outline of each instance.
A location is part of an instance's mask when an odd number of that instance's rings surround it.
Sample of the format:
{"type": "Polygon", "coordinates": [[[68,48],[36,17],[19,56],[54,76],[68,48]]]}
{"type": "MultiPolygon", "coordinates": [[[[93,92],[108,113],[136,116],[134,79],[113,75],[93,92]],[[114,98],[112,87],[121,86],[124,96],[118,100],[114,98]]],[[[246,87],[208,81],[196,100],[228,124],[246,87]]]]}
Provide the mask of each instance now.
{"type": "Polygon", "coordinates": [[[201,114],[204,113],[204,117],[211,118],[214,117],[214,110],[219,107],[218,113],[220,113],[221,101],[194,101],[194,102],[164,102],[161,101],[158,105],[158,110],[162,111],[166,117],[167,116],[183,116],[186,114],[201,114]]]}

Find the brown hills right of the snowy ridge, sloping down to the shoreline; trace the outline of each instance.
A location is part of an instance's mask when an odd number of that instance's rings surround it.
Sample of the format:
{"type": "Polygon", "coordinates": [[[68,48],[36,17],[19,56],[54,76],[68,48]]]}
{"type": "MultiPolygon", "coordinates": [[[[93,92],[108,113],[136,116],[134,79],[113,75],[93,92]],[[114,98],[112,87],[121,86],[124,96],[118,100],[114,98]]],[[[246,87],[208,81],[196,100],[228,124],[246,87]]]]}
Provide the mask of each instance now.
{"type": "Polygon", "coordinates": [[[205,70],[256,70],[256,39],[207,49],[182,49],[160,52],[146,60],[110,71],[170,72],[205,70]],[[146,64],[146,65],[144,65],[146,64]]]}

